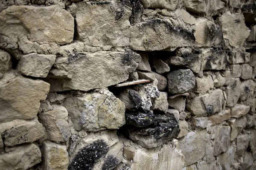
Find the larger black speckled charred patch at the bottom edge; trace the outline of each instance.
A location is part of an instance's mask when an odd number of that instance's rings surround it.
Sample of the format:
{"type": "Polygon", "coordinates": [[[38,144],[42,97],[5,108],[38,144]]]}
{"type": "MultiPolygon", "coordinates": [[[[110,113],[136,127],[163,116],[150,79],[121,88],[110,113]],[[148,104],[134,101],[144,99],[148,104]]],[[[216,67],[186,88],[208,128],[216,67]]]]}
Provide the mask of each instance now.
{"type": "Polygon", "coordinates": [[[108,144],[104,140],[97,140],[76,154],[68,170],[92,170],[96,161],[106,156],[108,150],[108,144]]]}

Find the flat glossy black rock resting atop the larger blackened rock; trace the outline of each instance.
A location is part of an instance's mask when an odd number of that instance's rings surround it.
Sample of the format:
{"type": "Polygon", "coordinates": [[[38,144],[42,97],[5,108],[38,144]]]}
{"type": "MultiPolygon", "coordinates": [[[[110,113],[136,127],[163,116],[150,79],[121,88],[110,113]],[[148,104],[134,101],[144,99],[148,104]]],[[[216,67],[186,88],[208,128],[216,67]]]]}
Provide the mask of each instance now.
{"type": "Polygon", "coordinates": [[[125,113],[125,120],[128,125],[136,127],[147,127],[157,123],[153,111],[148,113],[125,113]]]}

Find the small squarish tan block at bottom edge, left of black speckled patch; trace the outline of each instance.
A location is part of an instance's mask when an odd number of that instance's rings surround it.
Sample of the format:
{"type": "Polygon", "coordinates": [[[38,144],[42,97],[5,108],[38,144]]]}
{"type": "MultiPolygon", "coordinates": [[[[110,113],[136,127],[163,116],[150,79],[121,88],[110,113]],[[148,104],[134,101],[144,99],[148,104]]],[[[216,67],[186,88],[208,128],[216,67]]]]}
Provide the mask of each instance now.
{"type": "Polygon", "coordinates": [[[45,170],[65,170],[68,167],[67,147],[50,141],[43,142],[43,168],[45,170]]]}

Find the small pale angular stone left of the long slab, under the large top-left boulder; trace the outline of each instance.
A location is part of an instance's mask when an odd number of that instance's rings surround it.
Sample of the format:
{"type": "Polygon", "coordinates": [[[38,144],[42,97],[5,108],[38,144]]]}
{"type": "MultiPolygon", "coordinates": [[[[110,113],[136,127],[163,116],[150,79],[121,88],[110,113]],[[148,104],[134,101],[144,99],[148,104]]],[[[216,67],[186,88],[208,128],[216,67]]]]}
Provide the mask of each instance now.
{"type": "Polygon", "coordinates": [[[27,54],[20,58],[17,70],[26,76],[47,77],[56,56],[44,54],[27,54]]]}

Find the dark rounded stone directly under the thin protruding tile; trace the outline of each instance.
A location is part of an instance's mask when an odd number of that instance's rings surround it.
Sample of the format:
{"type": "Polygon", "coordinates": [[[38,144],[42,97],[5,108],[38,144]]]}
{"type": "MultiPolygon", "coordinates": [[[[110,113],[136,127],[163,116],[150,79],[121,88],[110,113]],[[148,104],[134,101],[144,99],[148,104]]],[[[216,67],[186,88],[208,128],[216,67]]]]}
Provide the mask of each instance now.
{"type": "Polygon", "coordinates": [[[118,98],[125,104],[125,110],[135,111],[141,105],[141,96],[131,88],[125,88],[118,95],[118,98]]]}

